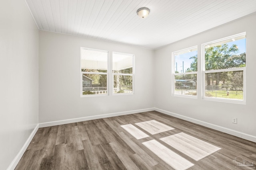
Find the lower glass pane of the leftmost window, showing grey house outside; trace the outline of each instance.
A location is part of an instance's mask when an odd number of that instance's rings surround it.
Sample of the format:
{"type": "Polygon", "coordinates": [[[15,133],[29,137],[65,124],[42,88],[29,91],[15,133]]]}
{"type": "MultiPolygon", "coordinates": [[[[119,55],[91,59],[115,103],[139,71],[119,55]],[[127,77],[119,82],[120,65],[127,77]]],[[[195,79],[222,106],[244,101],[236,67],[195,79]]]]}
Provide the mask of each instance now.
{"type": "Polygon", "coordinates": [[[87,94],[107,94],[106,74],[82,74],[83,95],[87,94]]]}

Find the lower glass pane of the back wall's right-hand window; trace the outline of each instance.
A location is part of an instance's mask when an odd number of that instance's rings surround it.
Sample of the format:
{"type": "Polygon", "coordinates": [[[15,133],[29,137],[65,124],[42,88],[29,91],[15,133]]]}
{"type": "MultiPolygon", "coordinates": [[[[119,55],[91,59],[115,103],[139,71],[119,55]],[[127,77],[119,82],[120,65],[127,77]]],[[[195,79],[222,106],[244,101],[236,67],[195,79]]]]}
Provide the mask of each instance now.
{"type": "Polygon", "coordinates": [[[114,75],[114,93],[132,93],[132,76],[114,75]]]}

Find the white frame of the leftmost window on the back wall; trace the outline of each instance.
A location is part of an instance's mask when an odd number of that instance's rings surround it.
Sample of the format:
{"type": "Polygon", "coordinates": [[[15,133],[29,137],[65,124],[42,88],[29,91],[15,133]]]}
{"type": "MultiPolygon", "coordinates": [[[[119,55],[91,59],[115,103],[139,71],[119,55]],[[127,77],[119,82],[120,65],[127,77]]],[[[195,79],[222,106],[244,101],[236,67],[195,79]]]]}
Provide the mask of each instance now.
{"type": "Polygon", "coordinates": [[[90,49],[90,48],[85,48],[85,47],[80,47],[80,97],[93,97],[93,96],[108,96],[109,95],[109,51],[104,51],[104,50],[98,50],[98,49],[90,49]],[[86,50],[92,50],[92,51],[101,51],[107,53],[107,72],[82,72],[81,71],[81,58],[82,58],[82,53],[81,50],[86,49],[86,50]],[[107,75],[107,92],[106,94],[87,94],[83,95],[83,74],[102,74],[102,75],[107,75]]]}

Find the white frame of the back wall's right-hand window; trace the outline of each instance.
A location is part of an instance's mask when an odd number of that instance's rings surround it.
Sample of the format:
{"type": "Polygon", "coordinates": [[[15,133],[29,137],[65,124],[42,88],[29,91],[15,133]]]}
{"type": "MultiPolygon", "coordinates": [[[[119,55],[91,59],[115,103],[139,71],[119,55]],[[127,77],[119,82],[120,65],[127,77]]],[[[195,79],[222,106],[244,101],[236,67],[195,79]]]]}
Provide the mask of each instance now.
{"type": "MultiPolygon", "coordinates": [[[[135,55],[134,54],[127,54],[127,53],[118,53],[118,52],[112,52],[112,60],[113,60],[113,54],[122,54],[122,55],[128,55],[132,57],[132,74],[125,74],[125,73],[114,73],[112,68],[112,95],[133,95],[134,94],[134,75],[135,75],[135,55]],[[132,92],[131,93],[114,93],[114,75],[120,75],[120,76],[132,76],[132,92]]],[[[112,63],[113,64],[113,63],[112,63]]]]}

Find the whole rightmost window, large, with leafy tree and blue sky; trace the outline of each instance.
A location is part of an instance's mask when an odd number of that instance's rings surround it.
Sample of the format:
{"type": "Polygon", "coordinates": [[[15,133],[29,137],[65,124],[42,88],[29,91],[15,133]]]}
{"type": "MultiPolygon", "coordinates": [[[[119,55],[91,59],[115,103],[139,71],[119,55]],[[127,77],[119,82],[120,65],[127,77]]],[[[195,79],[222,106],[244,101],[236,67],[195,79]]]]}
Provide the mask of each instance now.
{"type": "Polygon", "coordinates": [[[246,33],[202,45],[203,98],[245,102],[246,33]]]}

